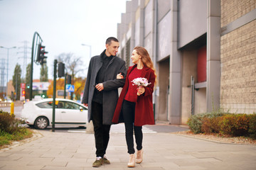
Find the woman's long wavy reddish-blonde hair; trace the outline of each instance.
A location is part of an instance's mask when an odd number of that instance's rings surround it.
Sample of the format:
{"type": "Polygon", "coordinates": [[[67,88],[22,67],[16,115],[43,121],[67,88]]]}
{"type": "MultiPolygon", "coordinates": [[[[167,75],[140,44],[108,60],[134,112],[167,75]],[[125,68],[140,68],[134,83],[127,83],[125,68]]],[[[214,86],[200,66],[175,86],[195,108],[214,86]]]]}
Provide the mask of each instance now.
{"type": "Polygon", "coordinates": [[[146,66],[149,67],[150,69],[152,69],[154,71],[155,74],[155,85],[156,85],[156,69],[154,68],[154,64],[151,60],[151,58],[149,57],[149,52],[144,48],[144,47],[134,47],[134,50],[136,50],[137,54],[140,55],[142,58],[142,63],[146,66]]]}

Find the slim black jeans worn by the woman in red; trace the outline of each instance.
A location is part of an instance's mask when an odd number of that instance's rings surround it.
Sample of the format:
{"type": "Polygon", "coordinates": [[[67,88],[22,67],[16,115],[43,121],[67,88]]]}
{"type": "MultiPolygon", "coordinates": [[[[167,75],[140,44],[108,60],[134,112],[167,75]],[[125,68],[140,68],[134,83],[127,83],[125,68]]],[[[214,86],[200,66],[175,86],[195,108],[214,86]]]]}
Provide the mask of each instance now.
{"type": "Polygon", "coordinates": [[[126,100],[124,100],[124,103],[122,105],[122,113],[124,116],[125,126],[125,138],[127,141],[127,149],[129,154],[135,153],[133,131],[135,135],[137,150],[142,149],[142,126],[134,126],[135,105],[136,103],[126,100]]]}

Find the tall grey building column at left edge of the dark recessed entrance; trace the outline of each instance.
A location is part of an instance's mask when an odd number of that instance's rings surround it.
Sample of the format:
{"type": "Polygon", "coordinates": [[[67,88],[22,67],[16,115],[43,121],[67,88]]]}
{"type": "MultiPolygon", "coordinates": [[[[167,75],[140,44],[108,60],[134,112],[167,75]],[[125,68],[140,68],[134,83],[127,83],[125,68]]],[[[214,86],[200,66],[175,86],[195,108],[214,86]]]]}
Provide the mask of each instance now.
{"type": "Polygon", "coordinates": [[[181,124],[181,54],[177,50],[178,1],[171,0],[169,123],[181,124]]]}

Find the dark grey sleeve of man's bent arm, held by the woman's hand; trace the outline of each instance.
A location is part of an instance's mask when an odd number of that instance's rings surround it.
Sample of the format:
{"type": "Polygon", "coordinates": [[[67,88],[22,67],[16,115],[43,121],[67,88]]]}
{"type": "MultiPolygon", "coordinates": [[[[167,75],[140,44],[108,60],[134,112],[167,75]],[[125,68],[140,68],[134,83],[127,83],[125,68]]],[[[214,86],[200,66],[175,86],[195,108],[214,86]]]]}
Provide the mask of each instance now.
{"type": "Polygon", "coordinates": [[[127,75],[127,69],[125,67],[125,62],[123,62],[122,66],[119,69],[119,73],[124,73],[124,79],[113,79],[103,82],[104,90],[111,91],[113,89],[117,89],[119,87],[123,87],[125,83],[125,78],[127,75]]]}

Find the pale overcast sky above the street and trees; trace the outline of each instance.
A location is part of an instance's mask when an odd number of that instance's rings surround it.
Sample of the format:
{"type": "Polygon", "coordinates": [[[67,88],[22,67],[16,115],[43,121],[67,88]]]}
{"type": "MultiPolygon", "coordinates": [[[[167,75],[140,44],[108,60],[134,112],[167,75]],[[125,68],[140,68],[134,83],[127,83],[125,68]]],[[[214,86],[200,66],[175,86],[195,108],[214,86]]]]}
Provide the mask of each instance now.
{"type": "MultiPolygon", "coordinates": [[[[35,32],[39,33],[48,51],[49,79],[53,79],[53,60],[63,52],[82,57],[87,67],[90,47],[81,44],[91,45],[92,56],[100,55],[105,50],[105,40],[110,36],[117,37],[117,23],[126,11],[126,1],[0,0],[0,46],[16,46],[9,50],[8,78],[12,79],[16,63],[21,65],[22,71],[24,63],[31,63],[35,32]]],[[[0,48],[0,75],[3,68],[6,74],[6,62],[7,50],[0,48]]],[[[41,66],[33,65],[33,79],[39,79],[41,66]]],[[[80,72],[82,77],[86,74],[87,71],[80,72]]]]}

